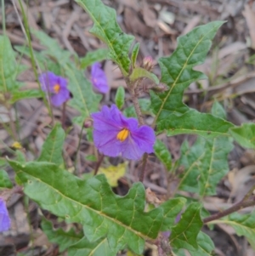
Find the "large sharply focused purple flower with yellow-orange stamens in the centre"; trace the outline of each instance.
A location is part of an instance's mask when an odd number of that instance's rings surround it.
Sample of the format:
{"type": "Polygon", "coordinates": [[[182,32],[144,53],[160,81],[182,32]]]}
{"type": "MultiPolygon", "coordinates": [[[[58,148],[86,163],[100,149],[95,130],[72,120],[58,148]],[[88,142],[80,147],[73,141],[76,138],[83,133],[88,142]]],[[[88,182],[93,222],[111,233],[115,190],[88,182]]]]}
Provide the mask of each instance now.
{"type": "Polygon", "coordinates": [[[145,152],[152,153],[156,140],[152,128],[139,127],[137,119],[122,115],[116,105],[104,105],[100,112],[91,115],[94,119],[94,144],[106,156],[122,156],[138,160],[145,152]]]}

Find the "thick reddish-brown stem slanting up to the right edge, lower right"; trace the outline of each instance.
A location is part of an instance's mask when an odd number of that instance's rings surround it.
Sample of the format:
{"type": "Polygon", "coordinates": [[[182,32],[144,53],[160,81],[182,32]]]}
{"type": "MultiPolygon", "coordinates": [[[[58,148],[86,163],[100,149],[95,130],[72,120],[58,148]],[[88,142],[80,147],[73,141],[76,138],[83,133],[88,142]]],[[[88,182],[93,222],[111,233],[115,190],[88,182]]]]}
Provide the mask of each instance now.
{"type": "Polygon", "coordinates": [[[247,201],[242,200],[241,202],[237,202],[235,205],[233,205],[232,207],[230,207],[222,212],[212,214],[211,216],[203,219],[203,223],[206,224],[212,220],[220,219],[224,216],[229,215],[230,213],[235,213],[235,212],[241,210],[242,208],[247,208],[250,206],[255,206],[255,197],[254,196],[252,197],[251,200],[247,200],[247,201]]]}

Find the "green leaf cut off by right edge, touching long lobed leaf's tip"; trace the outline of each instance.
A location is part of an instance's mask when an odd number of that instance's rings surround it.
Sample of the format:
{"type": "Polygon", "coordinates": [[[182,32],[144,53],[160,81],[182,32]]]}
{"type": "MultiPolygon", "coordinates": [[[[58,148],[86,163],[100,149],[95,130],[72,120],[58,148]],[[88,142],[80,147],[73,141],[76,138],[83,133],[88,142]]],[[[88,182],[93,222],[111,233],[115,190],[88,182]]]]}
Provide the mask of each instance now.
{"type": "Polygon", "coordinates": [[[255,123],[243,123],[241,127],[229,129],[238,144],[248,149],[255,149],[255,123]]]}

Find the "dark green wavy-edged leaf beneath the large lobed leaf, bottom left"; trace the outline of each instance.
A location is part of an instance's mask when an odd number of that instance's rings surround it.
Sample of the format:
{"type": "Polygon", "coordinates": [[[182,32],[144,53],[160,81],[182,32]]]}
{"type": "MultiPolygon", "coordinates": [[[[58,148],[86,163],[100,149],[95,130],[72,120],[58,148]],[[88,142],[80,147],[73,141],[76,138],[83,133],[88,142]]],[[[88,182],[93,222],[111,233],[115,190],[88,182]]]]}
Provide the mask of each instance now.
{"type": "Polygon", "coordinates": [[[48,240],[59,245],[60,252],[65,251],[65,249],[79,242],[83,237],[82,233],[77,234],[73,229],[68,232],[65,232],[62,229],[54,230],[52,223],[47,219],[42,219],[41,226],[43,232],[48,237],[48,240]]]}

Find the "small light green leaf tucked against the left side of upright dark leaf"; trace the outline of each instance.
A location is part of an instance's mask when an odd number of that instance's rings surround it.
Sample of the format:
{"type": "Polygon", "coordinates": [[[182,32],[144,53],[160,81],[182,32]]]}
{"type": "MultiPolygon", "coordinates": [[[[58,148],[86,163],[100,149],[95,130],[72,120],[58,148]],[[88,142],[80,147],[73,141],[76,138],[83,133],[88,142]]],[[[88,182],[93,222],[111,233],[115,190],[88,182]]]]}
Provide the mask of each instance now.
{"type": "Polygon", "coordinates": [[[160,208],[164,211],[163,223],[161,225],[161,231],[171,230],[176,216],[184,208],[186,199],[184,197],[173,198],[163,202],[160,208]]]}

